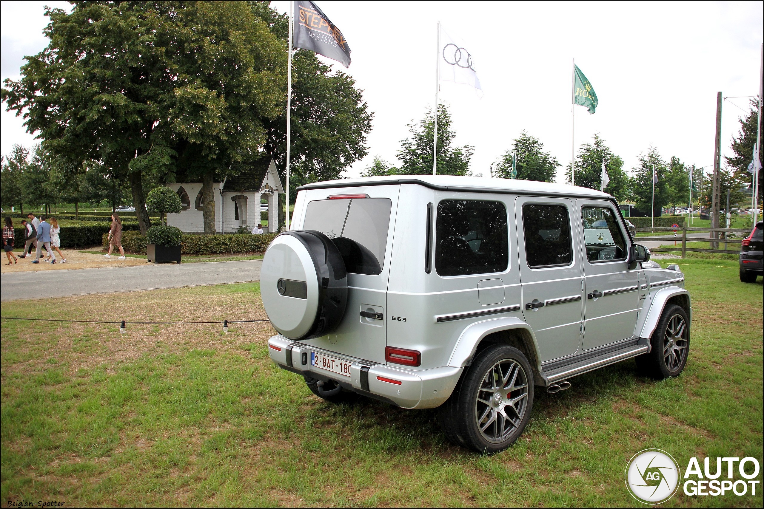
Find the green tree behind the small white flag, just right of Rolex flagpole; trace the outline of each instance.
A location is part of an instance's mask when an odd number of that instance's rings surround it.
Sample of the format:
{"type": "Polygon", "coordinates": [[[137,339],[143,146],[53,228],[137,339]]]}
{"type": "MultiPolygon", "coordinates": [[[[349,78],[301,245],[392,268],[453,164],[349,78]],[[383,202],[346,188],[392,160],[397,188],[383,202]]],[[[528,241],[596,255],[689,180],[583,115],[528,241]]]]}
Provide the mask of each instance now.
{"type": "MultiPolygon", "coordinates": [[[[605,161],[605,169],[610,182],[605,192],[613,195],[620,201],[626,200],[631,195],[629,188],[629,176],[623,169],[623,159],[613,154],[607,147],[605,140],[599,134],[594,134],[592,143],[582,143],[578,149],[575,163],[575,185],[600,190],[602,185],[602,161],[605,161]]],[[[571,166],[565,167],[565,177],[571,181],[571,166]]]]}

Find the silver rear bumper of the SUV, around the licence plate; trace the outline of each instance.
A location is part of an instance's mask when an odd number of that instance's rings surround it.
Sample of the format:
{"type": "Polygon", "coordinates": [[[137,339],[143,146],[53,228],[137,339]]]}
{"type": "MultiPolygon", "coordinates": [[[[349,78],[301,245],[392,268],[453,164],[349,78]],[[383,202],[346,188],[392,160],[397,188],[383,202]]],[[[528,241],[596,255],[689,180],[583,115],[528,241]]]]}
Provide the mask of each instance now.
{"type": "Polygon", "coordinates": [[[333,380],[348,391],[387,401],[400,408],[438,407],[451,395],[464,369],[451,366],[422,371],[393,368],[308,346],[283,336],[274,336],[268,340],[268,354],[282,369],[325,382],[333,380]],[[343,376],[311,366],[311,352],[324,353],[350,362],[351,375],[343,376]],[[385,382],[384,379],[400,383],[385,382]]]}

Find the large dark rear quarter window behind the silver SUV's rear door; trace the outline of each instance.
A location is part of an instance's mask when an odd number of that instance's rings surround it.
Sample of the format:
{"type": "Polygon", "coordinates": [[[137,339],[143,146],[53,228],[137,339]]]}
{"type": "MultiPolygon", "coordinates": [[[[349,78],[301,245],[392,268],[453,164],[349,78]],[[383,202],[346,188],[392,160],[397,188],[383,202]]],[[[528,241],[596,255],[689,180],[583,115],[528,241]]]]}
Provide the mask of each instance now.
{"type": "Polygon", "coordinates": [[[439,275],[503,272],[509,263],[507,209],[500,201],[443,200],[435,229],[439,275]]]}

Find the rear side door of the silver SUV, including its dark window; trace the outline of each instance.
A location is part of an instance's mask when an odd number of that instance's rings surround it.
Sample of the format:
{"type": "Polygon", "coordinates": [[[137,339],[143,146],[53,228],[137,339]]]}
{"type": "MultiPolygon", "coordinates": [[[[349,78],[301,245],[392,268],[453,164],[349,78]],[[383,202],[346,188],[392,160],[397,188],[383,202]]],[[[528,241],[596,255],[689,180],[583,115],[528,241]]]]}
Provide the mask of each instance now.
{"type": "Polygon", "coordinates": [[[567,198],[515,201],[523,316],[536,333],[542,362],[581,346],[581,259],[571,208],[567,198]]]}

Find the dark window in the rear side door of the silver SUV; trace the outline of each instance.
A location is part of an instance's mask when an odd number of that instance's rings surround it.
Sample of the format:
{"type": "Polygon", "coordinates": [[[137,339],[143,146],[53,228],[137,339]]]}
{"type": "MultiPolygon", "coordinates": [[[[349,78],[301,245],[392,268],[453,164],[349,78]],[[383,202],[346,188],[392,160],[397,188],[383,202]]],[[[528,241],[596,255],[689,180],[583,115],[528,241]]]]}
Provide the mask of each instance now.
{"type": "Polygon", "coordinates": [[[526,259],[530,267],[569,265],[572,257],[568,209],[562,205],[523,207],[526,259]]]}

